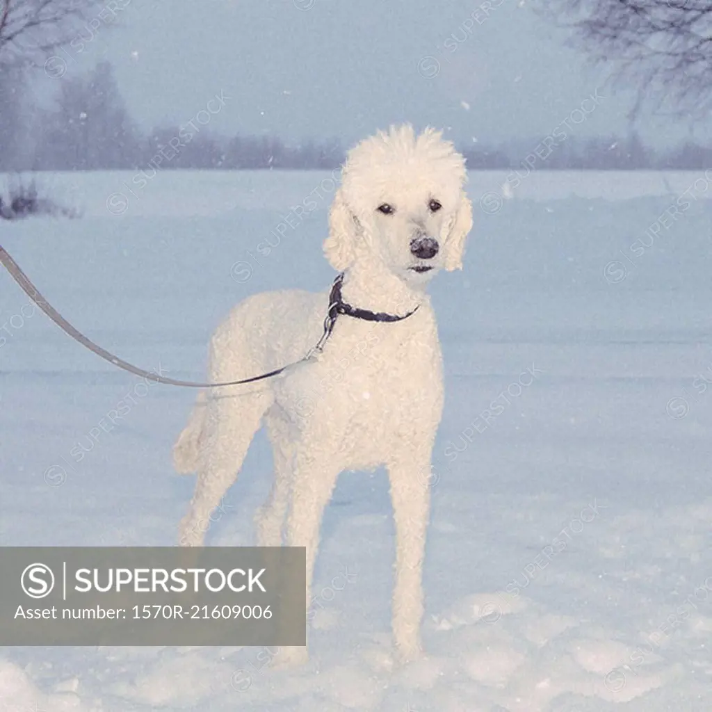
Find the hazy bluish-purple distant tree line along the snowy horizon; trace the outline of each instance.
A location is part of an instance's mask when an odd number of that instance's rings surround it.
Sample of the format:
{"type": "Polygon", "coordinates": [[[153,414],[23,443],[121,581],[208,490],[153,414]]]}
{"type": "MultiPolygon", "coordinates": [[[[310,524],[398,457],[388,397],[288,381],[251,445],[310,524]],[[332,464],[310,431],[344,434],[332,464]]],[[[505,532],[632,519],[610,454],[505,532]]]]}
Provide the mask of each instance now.
{"type": "MultiPolygon", "coordinates": [[[[288,146],[278,137],[157,127],[150,135],[132,121],[110,63],[85,78],[65,77],[49,108],[31,107],[21,66],[0,73],[0,172],[140,169],[161,153],[162,169],[333,169],[345,157],[337,140],[288,146]],[[33,120],[27,120],[33,117],[33,120]],[[178,140],[180,139],[180,140],[178,140]]],[[[470,169],[514,169],[536,141],[459,147],[470,169]]],[[[693,142],[669,150],[626,137],[575,135],[536,161],[539,169],[706,169],[712,147],[693,142]]]]}

